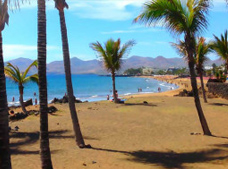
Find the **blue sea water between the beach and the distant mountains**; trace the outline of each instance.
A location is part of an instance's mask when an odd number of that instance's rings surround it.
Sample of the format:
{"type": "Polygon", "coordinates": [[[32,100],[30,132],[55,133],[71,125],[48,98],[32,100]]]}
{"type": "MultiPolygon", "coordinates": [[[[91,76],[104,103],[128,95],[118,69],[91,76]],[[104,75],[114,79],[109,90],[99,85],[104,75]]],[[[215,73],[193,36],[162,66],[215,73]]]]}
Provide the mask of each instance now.
{"type": "MultiPolygon", "coordinates": [[[[62,98],[66,93],[65,75],[48,75],[48,100],[62,98]]],[[[74,95],[82,101],[99,101],[106,100],[107,95],[112,96],[112,79],[109,76],[99,76],[94,74],[72,75],[74,95]]],[[[116,77],[116,89],[119,97],[126,95],[138,94],[138,88],[142,89],[140,93],[155,93],[161,91],[173,90],[178,88],[174,84],[157,81],[148,78],[139,77],[116,77]]],[[[19,104],[19,90],[17,84],[10,79],[6,79],[8,104],[19,104]],[[12,102],[12,98],[15,98],[12,102]]],[[[24,85],[24,100],[32,98],[39,99],[38,86],[35,83],[24,85]],[[36,96],[34,96],[36,93],[36,96]]],[[[111,98],[111,97],[110,97],[111,98]]]]}

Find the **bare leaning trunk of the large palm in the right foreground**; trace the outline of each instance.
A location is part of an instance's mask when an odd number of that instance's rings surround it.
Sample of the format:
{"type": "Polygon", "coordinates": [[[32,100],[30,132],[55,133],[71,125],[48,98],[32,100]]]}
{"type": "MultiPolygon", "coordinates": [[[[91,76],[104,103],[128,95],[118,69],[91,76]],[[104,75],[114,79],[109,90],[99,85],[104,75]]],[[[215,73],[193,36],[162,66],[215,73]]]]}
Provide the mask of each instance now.
{"type": "Polygon", "coordinates": [[[206,118],[204,116],[204,113],[203,113],[203,110],[201,107],[201,103],[200,103],[200,99],[199,99],[199,93],[198,93],[197,81],[196,81],[196,75],[195,75],[195,69],[194,69],[194,66],[195,66],[194,60],[193,60],[193,57],[189,57],[189,58],[190,58],[190,61],[188,62],[188,65],[189,65],[189,69],[190,69],[191,86],[192,86],[192,90],[193,90],[193,94],[194,94],[195,106],[197,109],[197,113],[199,116],[199,120],[200,120],[202,129],[203,129],[204,135],[211,136],[211,132],[210,132],[209,127],[207,125],[207,121],[206,121],[206,118]]]}

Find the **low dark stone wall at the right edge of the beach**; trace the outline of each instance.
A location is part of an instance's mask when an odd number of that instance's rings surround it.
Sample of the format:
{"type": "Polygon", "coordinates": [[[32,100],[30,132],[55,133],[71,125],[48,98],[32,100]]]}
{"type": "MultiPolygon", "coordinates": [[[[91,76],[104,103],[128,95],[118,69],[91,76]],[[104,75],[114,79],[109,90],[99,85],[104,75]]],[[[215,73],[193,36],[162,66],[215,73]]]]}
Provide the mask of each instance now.
{"type": "Polygon", "coordinates": [[[209,93],[228,99],[228,83],[208,82],[207,87],[209,93]]]}

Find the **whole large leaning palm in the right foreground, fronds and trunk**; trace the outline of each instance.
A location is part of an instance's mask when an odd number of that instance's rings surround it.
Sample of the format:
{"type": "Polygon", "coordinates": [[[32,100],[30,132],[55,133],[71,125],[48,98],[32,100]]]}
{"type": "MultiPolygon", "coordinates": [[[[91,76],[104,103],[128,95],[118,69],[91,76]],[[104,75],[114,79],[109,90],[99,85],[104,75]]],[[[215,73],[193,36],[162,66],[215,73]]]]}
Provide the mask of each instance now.
{"type": "Polygon", "coordinates": [[[143,12],[135,18],[135,22],[148,25],[161,23],[176,35],[184,35],[188,66],[191,75],[191,86],[201,126],[205,135],[211,135],[205,119],[196,82],[195,74],[195,36],[207,27],[206,14],[209,8],[207,0],[152,0],[145,3],[143,12]]]}

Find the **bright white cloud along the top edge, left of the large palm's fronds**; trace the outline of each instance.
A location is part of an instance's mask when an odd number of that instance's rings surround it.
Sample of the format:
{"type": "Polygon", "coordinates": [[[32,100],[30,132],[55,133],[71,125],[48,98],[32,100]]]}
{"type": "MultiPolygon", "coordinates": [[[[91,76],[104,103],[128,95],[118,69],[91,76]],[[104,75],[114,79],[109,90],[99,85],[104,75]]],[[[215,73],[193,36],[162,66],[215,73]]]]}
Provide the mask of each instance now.
{"type": "MultiPolygon", "coordinates": [[[[141,7],[146,0],[68,0],[69,11],[80,18],[102,20],[128,20],[135,17],[135,11],[127,9],[128,6],[141,7]]],[[[21,9],[37,8],[37,1],[25,2],[21,9]]],[[[54,10],[53,0],[46,1],[47,10],[54,10]]]]}

